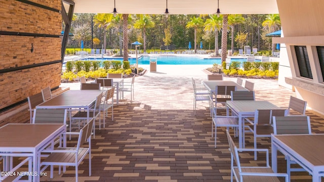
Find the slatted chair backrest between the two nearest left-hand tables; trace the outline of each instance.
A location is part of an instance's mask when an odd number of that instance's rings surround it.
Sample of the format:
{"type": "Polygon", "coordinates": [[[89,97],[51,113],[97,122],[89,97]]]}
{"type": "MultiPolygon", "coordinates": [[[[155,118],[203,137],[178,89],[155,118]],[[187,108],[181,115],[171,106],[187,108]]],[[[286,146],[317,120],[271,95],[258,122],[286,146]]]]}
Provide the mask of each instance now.
{"type": "Polygon", "coordinates": [[[34,109],[32,123],[66,124],[66,109],[34,109]]]}

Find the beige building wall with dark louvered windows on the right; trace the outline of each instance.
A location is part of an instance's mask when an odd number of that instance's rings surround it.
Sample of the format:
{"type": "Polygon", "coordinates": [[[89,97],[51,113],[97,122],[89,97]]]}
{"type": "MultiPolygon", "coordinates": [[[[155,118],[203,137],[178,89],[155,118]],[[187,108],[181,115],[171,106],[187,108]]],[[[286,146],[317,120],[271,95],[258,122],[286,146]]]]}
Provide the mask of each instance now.
{"type": "MultiPolygon", "coordinates": [[[[324,1],[277,0],[277,6],[284,37],[273,38],[273,43],[285,43],[288,59],[280,55],[280,64],[291,68],[291,76],[287,76],[290,78],[281,75],[278,82],[291,84],[297,96],[307,101],[308,107],[323,114],[324,82],[316,46],[324,46],[324,1]],[[313,79],[300,76],[294,45],[306,46],[313,79]]],[[[280,69],[285,70],[282,66],[280,69]]]]}

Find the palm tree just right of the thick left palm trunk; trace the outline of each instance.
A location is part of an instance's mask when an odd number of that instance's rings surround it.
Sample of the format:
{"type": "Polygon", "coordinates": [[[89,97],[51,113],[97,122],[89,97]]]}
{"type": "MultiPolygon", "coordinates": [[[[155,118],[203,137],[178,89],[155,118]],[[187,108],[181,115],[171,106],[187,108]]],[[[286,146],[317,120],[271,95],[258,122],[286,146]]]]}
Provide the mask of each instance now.
{"type": "Polygon", "coordinates": [[[138,19],[134,23],[134,28],[143,29],[143,49],[146,52],[146,28],[153,28],[154,22],[148,15],[137,15],[138,19]]]}

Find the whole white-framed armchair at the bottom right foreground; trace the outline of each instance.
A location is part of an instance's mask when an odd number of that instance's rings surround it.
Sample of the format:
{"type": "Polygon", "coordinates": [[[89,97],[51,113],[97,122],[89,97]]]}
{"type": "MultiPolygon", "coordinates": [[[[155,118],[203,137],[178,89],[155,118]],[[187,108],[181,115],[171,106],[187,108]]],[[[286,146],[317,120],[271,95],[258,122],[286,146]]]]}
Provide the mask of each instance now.
{"type": "Polygon", "coordinates": [[[269,151],[268,149],[238,149],[235,146],[228,130],[226,130],[229,151],[231,153],[231,182],[233,176],[236,181],[280,181],[278,177],[285,177],[285,181],[289,181],[287,173],[275,173],[269,165],[269,151]],[[238,151],[257,151],[266,153],[266,166],[241,166],[239,161],[238,151]]]}

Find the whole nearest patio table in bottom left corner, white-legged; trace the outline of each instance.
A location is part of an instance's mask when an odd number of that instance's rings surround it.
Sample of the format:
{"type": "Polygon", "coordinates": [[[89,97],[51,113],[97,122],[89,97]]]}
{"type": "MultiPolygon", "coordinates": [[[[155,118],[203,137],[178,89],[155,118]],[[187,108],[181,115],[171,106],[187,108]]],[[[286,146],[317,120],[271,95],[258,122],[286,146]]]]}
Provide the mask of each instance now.
{"type": "MultiPolygon", "coordinates": [[[[32,157],[32,181],[39,181],[39,155],[58,136],[66,132],[64,124],[16,124],[10,123],[0,128],[0,151],[2,156],[32,157]],[[37,175],[35,175],[37,172],[37,175]]],[[[7,163],[7,162],[6,162],[7,163]]],[[[13,167],[13,166],[12,166],[13,167]]],[[[5,170],[10,170],[6,166],[5,170]]]]}

